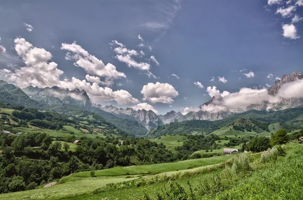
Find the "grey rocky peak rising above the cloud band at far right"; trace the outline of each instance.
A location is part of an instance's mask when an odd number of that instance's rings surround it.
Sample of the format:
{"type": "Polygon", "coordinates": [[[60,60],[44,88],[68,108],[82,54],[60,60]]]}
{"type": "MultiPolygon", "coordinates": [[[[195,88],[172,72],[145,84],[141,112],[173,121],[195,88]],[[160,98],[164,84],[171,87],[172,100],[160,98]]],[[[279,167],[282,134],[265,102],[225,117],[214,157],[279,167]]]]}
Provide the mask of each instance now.
{"type": "Polygon", "coordinates": [[[290,75],[282,75],[281,79],[275,81],[274,85],[268,89],[268,94],[275,96],[278,94],[282,85],[301,79],[303,79],[303,74],[300,72],[293,72],[290,75]]]}

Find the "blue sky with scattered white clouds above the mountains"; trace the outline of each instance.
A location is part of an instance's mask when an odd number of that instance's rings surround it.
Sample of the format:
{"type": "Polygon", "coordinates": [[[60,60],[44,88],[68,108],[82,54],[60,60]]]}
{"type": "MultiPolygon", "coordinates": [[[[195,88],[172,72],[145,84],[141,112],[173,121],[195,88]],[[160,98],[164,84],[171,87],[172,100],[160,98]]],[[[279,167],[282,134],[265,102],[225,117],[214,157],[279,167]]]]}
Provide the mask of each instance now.
{"type": "Polygon", "coordinates": [[[303,0],[1,1],[0,78],[185,113],[302,72],[302,17],[303,0]]]}

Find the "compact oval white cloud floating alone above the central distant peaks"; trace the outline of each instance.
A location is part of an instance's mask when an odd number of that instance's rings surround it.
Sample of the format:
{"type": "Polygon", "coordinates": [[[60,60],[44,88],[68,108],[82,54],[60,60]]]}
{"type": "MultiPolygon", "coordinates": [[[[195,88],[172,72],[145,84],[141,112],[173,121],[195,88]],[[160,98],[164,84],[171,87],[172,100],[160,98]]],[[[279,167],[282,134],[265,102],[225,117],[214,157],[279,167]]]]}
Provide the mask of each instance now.
{"type": "Polygon", "coordinates": [[[179,95],[172,85],[160,82],[144,85],[141,94],[143,101],[148,100],[151,103],[172,103],[179,95]]]}

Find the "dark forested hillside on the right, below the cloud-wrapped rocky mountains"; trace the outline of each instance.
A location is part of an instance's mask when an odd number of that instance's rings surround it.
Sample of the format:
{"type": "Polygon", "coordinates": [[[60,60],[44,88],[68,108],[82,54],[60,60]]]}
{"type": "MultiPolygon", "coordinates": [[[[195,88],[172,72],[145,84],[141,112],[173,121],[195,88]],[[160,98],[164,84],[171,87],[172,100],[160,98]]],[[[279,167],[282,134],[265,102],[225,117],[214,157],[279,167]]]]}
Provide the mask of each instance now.
{"type": "MultiPolygon", "coordinates": [[[[239,118],[249,117],[250,120],[254,120],[254,123],[257,123],[259,128],[262,130],[268,131],[265,127],[266,124],[279,123],[281,127],[294,130],[300,129],[303,123],[301,116],[303,115],[303,108],[289,108],[279,111],[271,111],[267,113],[266,111],[250,110],[240,114],[228,116],[221,120],[209,121],[209,120],[190,120],[169,123],[164,126],[159,126],[148,132],[147,137],[157,138],[163,135],[173,135],[173,134],[210,134],[215,130],[218,130],[222,127],[226,127],[235,120],[239,118]],[[256,120],[256,121],[255,121],[256,120]]],[[[243,129],[238,127],[239,121],[234,127],[231,127],[233,130],[243,129]]],[[[245,125],[244,125],[245,126],[245,125]]],[[[247,127],[248,128],[248,127],[247,127]]],[[[250,129],[249,129],[250,130],[250,129]]],[[[246,130],[247,131],[247,130],[246,130]]],[[[261,132],[261,130],[259,130],[261,132]]],[[[232,131],[229,135],[233,135],[232,131]]]]}

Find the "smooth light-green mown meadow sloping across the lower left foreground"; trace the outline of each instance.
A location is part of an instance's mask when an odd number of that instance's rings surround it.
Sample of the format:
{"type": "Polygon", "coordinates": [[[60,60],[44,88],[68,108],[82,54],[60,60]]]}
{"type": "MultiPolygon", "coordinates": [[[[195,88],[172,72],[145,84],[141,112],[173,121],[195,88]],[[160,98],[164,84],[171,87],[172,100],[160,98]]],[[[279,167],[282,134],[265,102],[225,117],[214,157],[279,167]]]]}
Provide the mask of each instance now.
{"type": "MultiPolygon", "coordinates": [[[[133,171],[134,174],[136,173],[138,175],[140,173],[146,173],[148,172],[148,170],[162,171],[162,172],[170,171],[169,173],[179,173],[180,171],[177,172],[176,171],[177,169],[179,170],[187,169],[188,166],[194,166],[194,165],[197,166],[212,165],[212,164],[224,162],[230,158],[231,158],[230,156],[202,158],[202,159],[180,161],[177,163],[156,164],[156,165],[147,165],[147,166],[132,166],[132,167],[126,167],[126,169],[130,169],[131,171],[133,171]]],[[[130,172],[129,170],[124,170],[121,172],[121,170],[122,168],[115,167],[108,170],[95,171],[95,175],[97,175],[97,177],[90,177],[89,172],[80,172],[64,178],[62,180],[63,182],[62,184],[56,184],[52,187],[0,194],[0,200],[61,199],[63,197],[65,197],[65,199],[70,199],[72,196],[79,196],[84,193],[91,193],[94,189],[100,186],[104,186],[108,183],[123,182],[123,181],[129,181],[136,178],[140,178],[140,177],[136,177],[136,175],[130,178],[126,178],[127,176],[125,175],[121,176],[122,174],[126,174],[127,172],[130,172]]],[[[192,171],[192,170],[196,170],[196,168],[185,170],[185,171],[192,171]]],[[[143,177],[148,178],[153,176],[155,175],[147,175],[143,177]]],[[[210,176],[210,174],[206,176],[210,176]]],[[[163,188],[163,183],[161,185],[155,184],[153,185],[153,187],[154,186],[155,188],[161,188],[161,187],[163,188]]],[[[135,193],[133,193],[132,190],[133,189],[128,189],[127,191],[121,190],[121,191],[117,191],[118,193],[108,192],[102,195],[106,195],[106,196],[112,195],[119,197],[119,199],[130,199],[129,195],[132,195],[133,197],[137,197],[141,193],[141,189],[136,188],[135,193]],[[124,197],[122,197],[121,195],[124,195],[124,197]]],[[[86,195],[84,194],[83,198],[80,197],[80,199],[87,199],[87,198],[88,198],[87,194],[86,195]]],[[[101,199],[101,198],[97,197],[93,199],[101,199]]]]}

